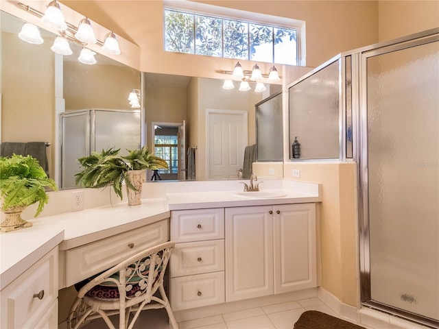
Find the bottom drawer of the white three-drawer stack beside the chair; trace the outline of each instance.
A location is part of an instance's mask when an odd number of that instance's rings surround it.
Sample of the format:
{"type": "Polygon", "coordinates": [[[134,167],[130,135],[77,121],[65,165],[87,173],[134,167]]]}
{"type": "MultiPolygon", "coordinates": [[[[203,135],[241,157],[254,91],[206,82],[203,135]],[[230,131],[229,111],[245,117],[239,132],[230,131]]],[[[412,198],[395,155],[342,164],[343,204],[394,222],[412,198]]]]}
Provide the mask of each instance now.
{"type": "Polygon", "coordinates": [[[224,271],[171,278],[171,308],[174,311],[224,301],[224,271]]]}

